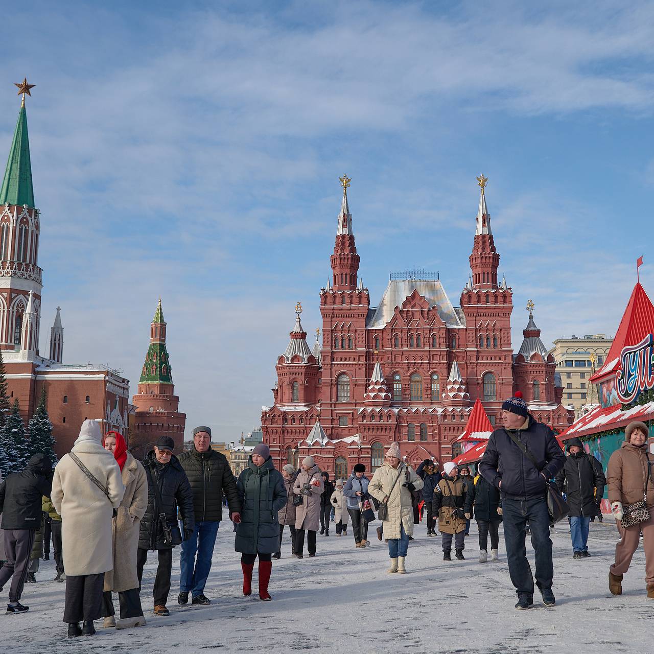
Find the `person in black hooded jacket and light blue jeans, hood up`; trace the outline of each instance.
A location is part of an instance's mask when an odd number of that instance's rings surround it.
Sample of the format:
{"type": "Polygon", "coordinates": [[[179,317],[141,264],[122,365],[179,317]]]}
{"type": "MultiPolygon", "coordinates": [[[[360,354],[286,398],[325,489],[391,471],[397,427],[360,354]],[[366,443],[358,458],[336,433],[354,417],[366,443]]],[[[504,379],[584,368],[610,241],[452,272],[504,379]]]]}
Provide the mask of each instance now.
{"type": "Polygon", "coordinates": [[[566,443],[568,456],[563,469],[557,475],[557,487],[566,494],[570,507],[570,536],[572,537],[572,558],[585,559],[588,553],[588,530],[591,517],[597,515],[606,477],[602,464],[583,451],[583,443],[571,438],[566,443]]]}

